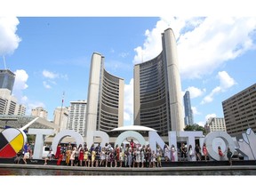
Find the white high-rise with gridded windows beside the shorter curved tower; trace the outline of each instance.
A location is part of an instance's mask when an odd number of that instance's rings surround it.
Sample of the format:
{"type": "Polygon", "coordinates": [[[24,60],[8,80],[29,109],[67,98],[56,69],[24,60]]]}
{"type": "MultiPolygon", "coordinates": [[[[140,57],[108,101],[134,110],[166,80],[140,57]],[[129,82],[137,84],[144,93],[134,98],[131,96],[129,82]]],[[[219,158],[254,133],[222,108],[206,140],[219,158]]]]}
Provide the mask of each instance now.
{"type": "Polygon", "coordinates": [[[68,130],[79,132],[84,137],[86,121],[86,100],[70,101],[68,114],[68,130]]]}

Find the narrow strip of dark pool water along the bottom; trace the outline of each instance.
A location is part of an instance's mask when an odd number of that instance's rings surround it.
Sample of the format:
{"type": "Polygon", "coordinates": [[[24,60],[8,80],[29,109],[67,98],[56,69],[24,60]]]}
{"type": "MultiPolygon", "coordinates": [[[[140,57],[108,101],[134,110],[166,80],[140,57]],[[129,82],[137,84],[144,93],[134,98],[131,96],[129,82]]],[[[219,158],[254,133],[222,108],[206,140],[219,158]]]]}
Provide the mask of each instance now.
{"type": "Polygon", "coordinates": [[[78,170],[40,170],[40,169],[13,169],[13,168],[0,168],[0,175],[31,175],[31,176],[52,176],[52,175],[66,175],[66,176],[85,176],[85,175],[169,175],[169,176],[177,176],[177,175],[256,175],[256,170],[220,170],[220,171],[163,171],[163,172],[112,172],[112,171],[78,171],[78,170]]]}

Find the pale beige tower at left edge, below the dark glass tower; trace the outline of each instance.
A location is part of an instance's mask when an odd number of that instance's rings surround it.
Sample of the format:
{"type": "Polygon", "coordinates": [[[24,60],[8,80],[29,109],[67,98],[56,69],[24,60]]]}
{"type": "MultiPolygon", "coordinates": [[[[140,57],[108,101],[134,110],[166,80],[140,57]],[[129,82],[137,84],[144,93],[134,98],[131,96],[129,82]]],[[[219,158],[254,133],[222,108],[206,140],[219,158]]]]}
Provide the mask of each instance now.
{"type": "Polygon", "coordinates": [[[0,89],[0,115],[17,115],[17,99],[9,89],[0,89]]]}

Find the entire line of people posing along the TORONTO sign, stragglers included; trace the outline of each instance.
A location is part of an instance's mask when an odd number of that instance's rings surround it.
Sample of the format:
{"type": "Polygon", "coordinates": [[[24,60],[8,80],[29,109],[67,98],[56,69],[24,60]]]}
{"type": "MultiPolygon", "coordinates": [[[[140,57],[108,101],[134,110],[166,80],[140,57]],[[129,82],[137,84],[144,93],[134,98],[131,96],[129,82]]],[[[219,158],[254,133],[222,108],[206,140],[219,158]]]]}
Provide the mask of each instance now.
{"type": "MultiPolygon", "coordinates": [[[[76,147],[76,144],[72,146],[71,143],[68,143],[68,146],[64,145],[62,147],[59,144],[54,157],[52,157],[52,151],[50,150],[49,154],[44,158],[44,164],[55,158],[57,159],[57,165],[64,161],[65,164],[70,166],[86,167],[162,167],[162,157],[166,162],[174,162],[176,161],[175,153],[177,153],[177,150],[174,145],[169,147],[165,144],[163,149],[156,145],[155,151],[149,145],[136,145],[133,140],[130,140],[125,146],[124,143],[121,146],[116,145],[115,148],[109,143],[106,143],[104,147],[101,147],[100,143],[96,146],[92,144],[90,148],[86,143],[84,143],[84,146],[80,144],[78,147],[76,147]]],[[[218,154],[220,160],[225,156],[220,146],[218,147],[218,154]]],[[[187,148],[185,143],[181,143],[180,153],[177,155],[179,155],[180,161],[192,161],[193,156],[196,156],[196,161],[207,161],[209,158],[205,143],[202,150],[197,143],[194,150],[191,145],[187,148]]],[[[232,155],[230,148],[228,148],[227,157],[230,165],[232,165],[232,155]]],[[[32,158],[32,149],[30,144],[26,143],[24,148],[17,153],[14,163],[19,164],[22,159],[24,164],[27,164],[28,158],[32,158]]]]}

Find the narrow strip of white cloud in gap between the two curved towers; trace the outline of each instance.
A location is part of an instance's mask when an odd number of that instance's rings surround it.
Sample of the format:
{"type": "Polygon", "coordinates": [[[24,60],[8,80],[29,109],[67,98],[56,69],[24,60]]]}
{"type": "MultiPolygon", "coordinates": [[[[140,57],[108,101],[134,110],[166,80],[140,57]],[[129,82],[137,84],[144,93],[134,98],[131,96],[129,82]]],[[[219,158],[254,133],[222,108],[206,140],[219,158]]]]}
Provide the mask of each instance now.
{"type": "MultiPolygon", "coordinates": [[[[133,124],[133,78],[124,85],[124,121],[133,124]]],[[[128,124],[127,124],[128,125],[128,124]]]]}

